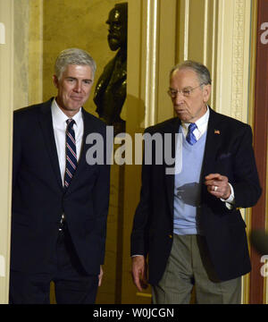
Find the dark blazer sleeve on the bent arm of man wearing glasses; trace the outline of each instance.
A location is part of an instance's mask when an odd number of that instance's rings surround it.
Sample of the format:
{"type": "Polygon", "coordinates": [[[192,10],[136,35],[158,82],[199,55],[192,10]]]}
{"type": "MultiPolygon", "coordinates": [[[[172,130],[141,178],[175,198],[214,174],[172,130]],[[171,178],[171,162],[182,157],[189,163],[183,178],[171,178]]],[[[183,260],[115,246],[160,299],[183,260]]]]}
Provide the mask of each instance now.
{"type": "Polygon", "coordinates": [[[238,208],[253,207],[260,198],[262,189],[255,165],[255,155],[252,147],[252,131],[245,127],[244,135],[239,141],[239,148],[234,162],[235,206],[238,208]]]}

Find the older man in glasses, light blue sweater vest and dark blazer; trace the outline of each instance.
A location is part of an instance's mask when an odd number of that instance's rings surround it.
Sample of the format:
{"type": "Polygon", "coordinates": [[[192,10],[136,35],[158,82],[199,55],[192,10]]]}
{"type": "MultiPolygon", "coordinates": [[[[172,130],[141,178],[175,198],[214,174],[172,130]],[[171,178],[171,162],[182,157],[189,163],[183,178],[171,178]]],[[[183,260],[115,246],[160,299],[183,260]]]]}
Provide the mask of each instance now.
{"type": "Polygon", "coordinates": [[[176,65],[168,93],[177,117],[146,130],[171,133],[176,160],[167,174],[170,163],[154,157],[171,142],[153,145],[131,233],[133,281],[139,291],[146,287],[148,256],[154,303],[188,303],[193,285],[197,303],[239,303],[241,275],[251,269],[239,208],[261,195],[252,131],[207,106],[210,92],[203,64],[176,65]]]}

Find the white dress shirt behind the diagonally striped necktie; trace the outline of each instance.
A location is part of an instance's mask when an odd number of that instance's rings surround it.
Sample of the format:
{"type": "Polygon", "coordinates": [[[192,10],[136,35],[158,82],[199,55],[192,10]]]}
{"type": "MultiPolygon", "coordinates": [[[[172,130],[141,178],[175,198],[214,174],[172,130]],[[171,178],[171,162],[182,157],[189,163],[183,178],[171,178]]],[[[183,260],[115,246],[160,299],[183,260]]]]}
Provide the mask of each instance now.
{"type": "MultiPolygon", "coordinates": [[[[70,118],[66,114],[63,113],[61,108],[57,105],[55,99],[51,105],[51,113],[52,113],[52,123],[54,130],[54,140],[57,148],[58,160],[61,170],[61,176],[64,186],[64,174],[66,167],[66,121],[70,118]]],[[[81,112],[81,108],[77,114],[72,117],[72,120],[75,121],[73,125],[73,130],[75,133],[75,142],[76,142],[76,154],[78,157],[78,161],[80,159],[80,151],[84,133],[84,122],[83,115],[81,112]]]]}

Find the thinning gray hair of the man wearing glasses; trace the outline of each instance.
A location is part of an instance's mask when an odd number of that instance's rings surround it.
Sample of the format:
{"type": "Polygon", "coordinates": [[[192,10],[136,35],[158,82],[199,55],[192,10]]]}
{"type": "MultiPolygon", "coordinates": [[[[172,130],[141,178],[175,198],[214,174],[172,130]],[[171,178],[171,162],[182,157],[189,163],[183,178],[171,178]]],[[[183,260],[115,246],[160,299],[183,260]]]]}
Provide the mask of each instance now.
{"type": "Polygon", "coordinates": [[[180,71],[183,69],[189,69],[193,72],[197,73],[198,80],[200,81],[200,85],[208,85],[212,83],[211,76],[209,70],[205,67],[204,64],[200,64],[191,60],[184,61],[181,64],[176,64],[172,71],[170,72],[170,77],[172,77],[172,73],[175,71],[180,71]]]}

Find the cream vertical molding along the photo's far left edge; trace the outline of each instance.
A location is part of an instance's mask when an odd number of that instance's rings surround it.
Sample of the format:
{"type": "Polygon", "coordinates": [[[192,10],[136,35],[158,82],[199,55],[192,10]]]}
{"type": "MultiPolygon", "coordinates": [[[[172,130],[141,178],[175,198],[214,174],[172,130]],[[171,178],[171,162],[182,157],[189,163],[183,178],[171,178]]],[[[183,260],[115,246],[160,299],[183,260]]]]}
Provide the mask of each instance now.
{"type": "Polygon", "coordinates": [[[0,45],[0,303],[8,303],[13,138],[13,0],[0,0],[5,41],[0,45]]]}

